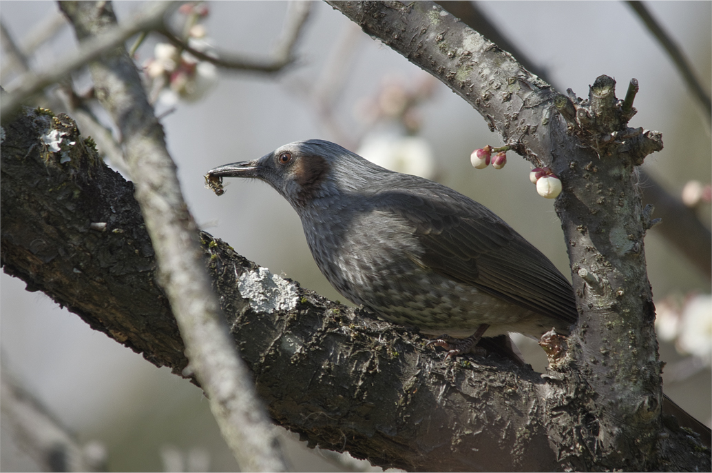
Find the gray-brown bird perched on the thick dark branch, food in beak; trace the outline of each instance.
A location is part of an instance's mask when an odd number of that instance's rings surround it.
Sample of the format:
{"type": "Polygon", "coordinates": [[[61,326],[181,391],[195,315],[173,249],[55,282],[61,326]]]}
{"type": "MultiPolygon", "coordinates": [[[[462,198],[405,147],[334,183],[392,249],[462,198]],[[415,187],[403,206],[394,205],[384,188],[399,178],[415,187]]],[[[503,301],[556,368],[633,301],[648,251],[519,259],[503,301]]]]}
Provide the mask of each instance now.
{"type": "Polygon", "coordinates": [[[288,143],[206,181],[256,178],[301,220],[313,258],[344,297],[377,317],[435,336],[446,357],[481,337],[567,335],[571,284],[481,203],[432,180],[389,171],[323,140],[288,143]]]}

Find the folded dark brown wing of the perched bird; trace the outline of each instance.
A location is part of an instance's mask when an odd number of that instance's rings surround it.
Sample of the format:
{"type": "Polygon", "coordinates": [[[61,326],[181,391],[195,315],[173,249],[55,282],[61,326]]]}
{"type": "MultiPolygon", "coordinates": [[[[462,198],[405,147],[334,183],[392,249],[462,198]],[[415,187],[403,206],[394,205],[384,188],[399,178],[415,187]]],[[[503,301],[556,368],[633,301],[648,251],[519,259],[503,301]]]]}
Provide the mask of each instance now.
{"type": "Polygon", "coordinates": [[[484,205],[419,181],[382,190],[379,210],[412,223],[424,248],[419,263],[543,315],[577,319],[573,289],[539,250],[484,205]]]}

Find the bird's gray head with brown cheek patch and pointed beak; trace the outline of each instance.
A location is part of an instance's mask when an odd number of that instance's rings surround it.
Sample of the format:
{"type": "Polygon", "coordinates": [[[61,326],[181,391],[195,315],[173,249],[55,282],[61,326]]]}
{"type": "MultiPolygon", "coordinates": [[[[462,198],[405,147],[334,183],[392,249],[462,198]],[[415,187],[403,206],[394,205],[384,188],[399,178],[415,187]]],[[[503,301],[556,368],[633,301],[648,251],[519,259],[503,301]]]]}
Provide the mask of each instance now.
{"type": "Polygon", "coordinates": [[[389,172],[330,141],[308,140],[281,146],[254,161],[219,166],[206,178],[264,180],[300,210],[314,199],[361,190],[389,172]]]}

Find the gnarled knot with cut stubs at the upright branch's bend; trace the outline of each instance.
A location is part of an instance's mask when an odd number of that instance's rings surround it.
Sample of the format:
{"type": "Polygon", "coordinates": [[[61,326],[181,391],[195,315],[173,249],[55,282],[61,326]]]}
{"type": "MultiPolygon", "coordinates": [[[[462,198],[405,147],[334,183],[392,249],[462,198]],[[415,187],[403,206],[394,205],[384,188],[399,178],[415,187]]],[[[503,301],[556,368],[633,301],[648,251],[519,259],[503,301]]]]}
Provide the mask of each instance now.
{"type": "Polygon", "coordinates": [[[577,98],[574,91],[567,96],[558,93],[554,106],[574,133],[593,148],[598,156],[627,156],[635,166],[646,156],[663,148],[662,134],[630,128],[628,122],[637,113],[633,101],[638,93],[637,79],[631,79],[623,100],[616,98],[616,81],[609,76],[599,76],[589,88],[588,98],[577,98]]]}

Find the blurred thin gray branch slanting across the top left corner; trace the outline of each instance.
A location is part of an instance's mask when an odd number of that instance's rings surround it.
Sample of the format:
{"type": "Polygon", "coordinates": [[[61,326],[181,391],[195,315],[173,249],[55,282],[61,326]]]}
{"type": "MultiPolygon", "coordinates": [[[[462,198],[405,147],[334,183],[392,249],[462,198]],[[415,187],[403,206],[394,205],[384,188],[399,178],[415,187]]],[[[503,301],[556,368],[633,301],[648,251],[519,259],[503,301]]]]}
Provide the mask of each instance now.
{"type": "Polygon", "coordinates": [[[12,113],[29,96],[41,89],[56,83],[68,73],[75,71],[86,63],[97,59],[108,49],[111,49],[140,31],[158,29],[163,24],[166,12],[174,6],[173,2],[152,2],[146,6],[136,19],[126,21],[123,26],[117,26],[106,34],[97,36],[93,41],[82,44],[75,54],[68,59],[46,68],[38,73],[26,73],[21,78],[21,86],[14,91],[3,94],[0,116],[3,120],[11,117],[12,113]]]}

